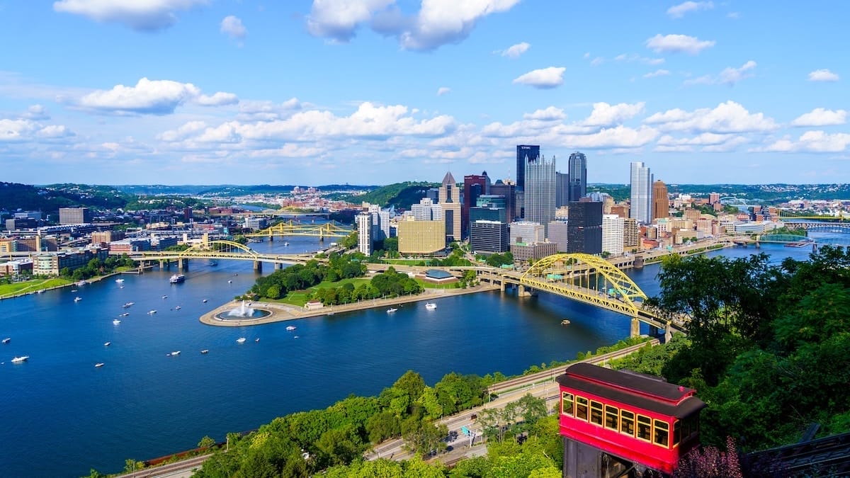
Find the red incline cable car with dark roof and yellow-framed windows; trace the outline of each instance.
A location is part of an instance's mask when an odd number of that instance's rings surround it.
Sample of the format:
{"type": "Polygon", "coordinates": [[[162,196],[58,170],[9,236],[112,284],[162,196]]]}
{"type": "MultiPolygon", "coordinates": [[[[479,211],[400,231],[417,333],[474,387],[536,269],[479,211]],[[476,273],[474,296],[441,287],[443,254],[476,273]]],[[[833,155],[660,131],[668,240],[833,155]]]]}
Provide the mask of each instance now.
{"type": "Polygon", "coordinates": [[[566,439],[666,474],[700,444],[700,410],[706,404],[694,389],[589,363],[568,367],[558,384],[566,439]]]}

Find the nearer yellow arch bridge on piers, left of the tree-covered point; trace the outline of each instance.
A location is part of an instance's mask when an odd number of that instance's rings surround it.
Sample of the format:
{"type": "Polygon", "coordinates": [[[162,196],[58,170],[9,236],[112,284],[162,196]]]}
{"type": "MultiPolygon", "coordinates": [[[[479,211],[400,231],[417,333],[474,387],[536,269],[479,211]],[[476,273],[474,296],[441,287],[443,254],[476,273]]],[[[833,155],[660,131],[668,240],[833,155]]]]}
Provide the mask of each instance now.
{"type": "Polygon", "coordinates": [[[128,254],[130,259],[137,261],[159,261],[163,266],[176,260],[180,269],[188,268],[189,259],[235,259],[251,260],[255,270],[263,269],[263,262],[270,262],[275,267],[289,264],[304,264],[313,259],[312,254],[268,254],[258,253],[252,248],[232,241],[204,241],[183,251],[139,251],[128,254]]]}

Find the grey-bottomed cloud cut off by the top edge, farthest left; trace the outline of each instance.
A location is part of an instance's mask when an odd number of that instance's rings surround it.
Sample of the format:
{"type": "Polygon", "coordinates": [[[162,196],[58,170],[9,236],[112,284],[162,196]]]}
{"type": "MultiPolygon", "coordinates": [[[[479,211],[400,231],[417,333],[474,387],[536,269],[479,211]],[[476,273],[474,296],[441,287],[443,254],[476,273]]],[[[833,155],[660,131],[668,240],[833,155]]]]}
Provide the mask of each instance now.
{"type": "Polygon", "coordinates": [[[133,30],[156,31],[177,21],[175,12],[206,5],[208,0],[59,0],[54,10],[99,22],[118,22],[133,30]]]}

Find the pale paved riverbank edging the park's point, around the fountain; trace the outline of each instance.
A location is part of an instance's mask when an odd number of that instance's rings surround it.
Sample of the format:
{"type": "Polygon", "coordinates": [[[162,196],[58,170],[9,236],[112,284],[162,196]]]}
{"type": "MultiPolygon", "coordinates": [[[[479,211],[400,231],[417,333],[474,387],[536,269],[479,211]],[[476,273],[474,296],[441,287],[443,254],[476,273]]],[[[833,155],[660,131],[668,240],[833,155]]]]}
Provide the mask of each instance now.
{"type": "MultiPolygon", "coordinates": [[[[227,304],[219,305],[214,310],[211,310],[200,317],[201,323],[219,326],[219,327],[243,327],[249,325],[262,325],[273,322],[293,321],[296,319],[305,319],[308,317],[332,316],[334,314],[343,314],[346,312],[356,312],[359,310],[377,309],[383,307],[394,307],[395,305],[411,304],[421,302],[422,300],[436,301],[440,298],[464,295],[467,293],[479,293],[499,290],[499,287],[490,286],[489,284],[481,284],[478,286],[467,287],[462,289],[425,289],[425,292],[416,295],[405,295],[394,297],[392,299],[371,299],[354,304],[339,304],[321,307],[319,309],[308,310],[303,307],[297,307],[290,304],[281,304],[277,302],[252,302],[253,309],[268,310],[269,316],[259,317],[256,319],[235,319],[224,320],[217,316],[229,310],[233,310],[241,305],[235,300],[227,304]]],[[[439,303],[437,303],[439,306],[439,303]]]]}

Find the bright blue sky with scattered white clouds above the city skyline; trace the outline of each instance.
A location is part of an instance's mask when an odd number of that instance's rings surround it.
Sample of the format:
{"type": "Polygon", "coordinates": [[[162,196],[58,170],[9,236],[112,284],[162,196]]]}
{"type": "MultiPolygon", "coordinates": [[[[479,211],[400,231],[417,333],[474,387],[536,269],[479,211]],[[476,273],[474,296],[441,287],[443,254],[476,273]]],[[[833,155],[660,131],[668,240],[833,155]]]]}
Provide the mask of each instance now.
{"type": "Polygon", "coordinates": [[[0,0],[0,180],[850,182],[850,4],[0,0]]]}

